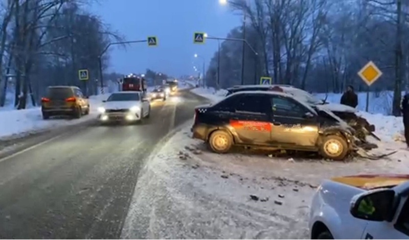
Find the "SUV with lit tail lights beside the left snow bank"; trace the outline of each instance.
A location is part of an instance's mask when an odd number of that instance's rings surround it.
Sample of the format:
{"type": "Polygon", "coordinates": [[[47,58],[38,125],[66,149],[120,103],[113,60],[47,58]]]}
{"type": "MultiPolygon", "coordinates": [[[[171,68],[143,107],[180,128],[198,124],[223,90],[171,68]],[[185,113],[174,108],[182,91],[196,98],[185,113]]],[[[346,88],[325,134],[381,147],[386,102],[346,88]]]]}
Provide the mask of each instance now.
{"type": "Polygon", "coordinates": [[[56,115],[80,118],[89,113],[88,97],[76,86],[50,86],[41,98],[41,113],[43,119],[56,115]]]}

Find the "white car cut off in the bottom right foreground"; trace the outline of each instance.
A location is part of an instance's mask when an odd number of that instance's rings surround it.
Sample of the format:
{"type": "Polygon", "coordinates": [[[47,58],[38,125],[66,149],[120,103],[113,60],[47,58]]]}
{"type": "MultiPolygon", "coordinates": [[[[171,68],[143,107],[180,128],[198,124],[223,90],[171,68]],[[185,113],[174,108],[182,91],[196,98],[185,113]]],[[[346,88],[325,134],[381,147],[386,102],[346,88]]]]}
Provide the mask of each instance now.
{"type": "Polygon", "coordinates": [[[409,175],[326,180],[316,191],[310,239],[409,239],[409,175]]]}

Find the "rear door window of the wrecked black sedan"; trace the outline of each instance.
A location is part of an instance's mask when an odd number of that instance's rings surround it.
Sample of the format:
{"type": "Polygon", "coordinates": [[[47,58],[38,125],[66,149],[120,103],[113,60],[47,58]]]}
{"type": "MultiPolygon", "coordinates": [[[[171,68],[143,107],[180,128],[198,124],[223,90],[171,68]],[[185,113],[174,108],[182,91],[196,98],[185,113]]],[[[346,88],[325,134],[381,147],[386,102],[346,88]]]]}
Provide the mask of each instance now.
{"type": "Polygon", "coordinates": [[[236,113],[267,114],[266,102],[262,95],[243,95],[236,102],[236,113]]]}

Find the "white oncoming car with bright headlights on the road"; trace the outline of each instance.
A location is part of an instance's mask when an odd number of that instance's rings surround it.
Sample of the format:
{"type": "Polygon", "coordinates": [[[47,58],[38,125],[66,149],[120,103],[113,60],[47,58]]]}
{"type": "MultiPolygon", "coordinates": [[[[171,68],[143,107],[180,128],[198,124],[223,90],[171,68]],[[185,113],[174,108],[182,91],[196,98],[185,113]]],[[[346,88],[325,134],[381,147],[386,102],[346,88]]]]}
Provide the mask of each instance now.
{"type": "Polygon", "coordinates": [[[150,103],[142,91],[112,93],[98,108],[98,119],[106,122],[141,122],[150,116],[150,103]]]}

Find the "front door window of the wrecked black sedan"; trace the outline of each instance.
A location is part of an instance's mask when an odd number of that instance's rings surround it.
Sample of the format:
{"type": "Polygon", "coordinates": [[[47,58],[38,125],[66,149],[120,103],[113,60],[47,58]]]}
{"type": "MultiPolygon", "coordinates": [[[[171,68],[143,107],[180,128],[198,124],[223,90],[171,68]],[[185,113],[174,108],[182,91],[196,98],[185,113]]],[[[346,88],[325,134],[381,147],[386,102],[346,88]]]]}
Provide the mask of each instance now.
{"type": "Polygon", "coordinates": [[[300,103],[281,96],[271,98],[271,110],[274,115],[290,117],[304,117],[308,112],[300,103]]]}

